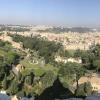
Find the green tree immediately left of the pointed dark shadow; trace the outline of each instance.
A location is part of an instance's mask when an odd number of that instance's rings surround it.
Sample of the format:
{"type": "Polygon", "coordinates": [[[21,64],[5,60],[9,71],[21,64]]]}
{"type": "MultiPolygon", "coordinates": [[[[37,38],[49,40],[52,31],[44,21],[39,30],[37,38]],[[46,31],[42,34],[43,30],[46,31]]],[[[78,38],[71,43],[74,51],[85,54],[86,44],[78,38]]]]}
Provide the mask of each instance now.
{"type": "Polygon", "coordinates": [[[39,82],[34,85],[32,93],[40,95],[46,88],[52,86],[55,80],[56,75],[54,72],[47,71],[41,76],[39,82]]]}

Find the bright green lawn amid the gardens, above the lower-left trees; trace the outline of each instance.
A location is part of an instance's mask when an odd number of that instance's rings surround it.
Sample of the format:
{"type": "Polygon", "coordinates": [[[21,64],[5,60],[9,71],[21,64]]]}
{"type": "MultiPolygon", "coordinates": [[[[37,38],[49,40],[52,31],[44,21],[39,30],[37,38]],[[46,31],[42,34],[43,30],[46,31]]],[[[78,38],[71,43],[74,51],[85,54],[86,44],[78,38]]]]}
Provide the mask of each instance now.
{"type": "Polygon", "coordinates": [[[22,71],[24,75],[28,74],[30,71],[33,71],[36,76],[41,76],[46,71],[53,71],[55,74],[58,72],[58,68],[55,68],[50,64],[46,64],[44,67],[41,67],[39,64],[33,64],[27,60],[22,60],[20,63],[25,66],[25,70],[22,71]]]}

